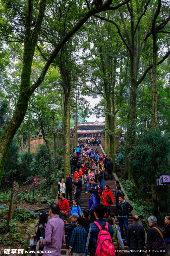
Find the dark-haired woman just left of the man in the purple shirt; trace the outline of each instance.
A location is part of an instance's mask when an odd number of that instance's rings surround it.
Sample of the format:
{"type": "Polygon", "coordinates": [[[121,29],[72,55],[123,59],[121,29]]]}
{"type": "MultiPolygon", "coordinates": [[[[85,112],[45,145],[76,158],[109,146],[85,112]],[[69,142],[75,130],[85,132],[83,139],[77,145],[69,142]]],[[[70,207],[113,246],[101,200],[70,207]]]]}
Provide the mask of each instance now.
{"type": "Polygon", "coordinates": [[[40,238],[45,238],[45,227],[48,221],[48,215],[46,212],[39,212],[38,216],[40,218],[39,222],[37,223],[35,234],[36,234],[36,240],[37,240],[37,246],[35,249],[35,256],[42,256],[42,254],[39,253],[39,251],[43,251],[44,245],[39,242],[40,238]],[[38,251],[38,252],[37,252],[38,251]]]}

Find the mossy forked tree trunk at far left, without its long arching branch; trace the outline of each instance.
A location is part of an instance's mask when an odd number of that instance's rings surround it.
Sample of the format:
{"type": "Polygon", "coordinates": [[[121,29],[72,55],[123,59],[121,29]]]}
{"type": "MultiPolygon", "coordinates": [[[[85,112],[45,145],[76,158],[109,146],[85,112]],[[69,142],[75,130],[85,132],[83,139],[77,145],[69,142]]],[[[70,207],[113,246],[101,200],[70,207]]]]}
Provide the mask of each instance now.
{"type": "Polygon", "coordinates": [[[10,123],[7,125],[6,129],[3,131],[0,139],[0,180],[2,178],[8,148],[10,146],[12,138],[20,127],[27,111],[28,101],[30,97],[31,66],[36,42],[41,29],[42,20],[44,18],[45,4],[46,1],[41,0],[37,22],[34,31],[32,31],[31,26],[33,16],[33,0],[28,1],[27,17],[25,20],[25,39],[20,93],[14,115],[10,123]]]}

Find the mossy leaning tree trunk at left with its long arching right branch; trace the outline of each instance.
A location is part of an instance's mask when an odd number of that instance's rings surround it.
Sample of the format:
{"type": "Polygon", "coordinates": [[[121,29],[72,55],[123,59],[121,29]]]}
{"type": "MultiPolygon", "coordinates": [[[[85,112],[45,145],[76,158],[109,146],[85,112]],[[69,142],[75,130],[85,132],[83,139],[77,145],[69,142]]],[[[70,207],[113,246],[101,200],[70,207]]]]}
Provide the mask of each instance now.
{"type": "Polygon", "coordinates": [[[6,129],[3,131],[0,138],[0,180],[2,179],[5,160],[6,160],[10,143],[24,119],[24,116],[28,108],[29,98],[31,97],[35,89],[38,88],[38,86],[40,86],[40,84],[44,80],[44,77],[51,63],[55,60],[60,49],[82,27],[82,25],[88,20],[89,17],[91,17],[96,13],[100,13],[102,11],[116,10],[120,8],[122,5],[125,5],[126,3],[128,3],[129,1],[130,0],[127,0],[117,6],[110,6],[112,4],[112,0],[108,0],[104,5],[100,7],[94,7],[90,9],[90,7],[88,6],[89,11],[84,14],[84,16],[73,26],[73,28],[68,33],[64,33],[64,36],[61,38],[61,41],[58,42],[54,51],[51,53],[49,59],[45,58],[47,60],[47,63],[45,64],[41,72],[41,75],[38,77],[37,81],[31,86],[30,76],[31,76],[32,61],[34,57],[35,46],[37,45],[38,35],[40,33],[42,21],[44,18],[46,1],[41,0],[40,7],[38,8],[39,9],[38,17],[37,19],[35,19],[35,17],[33,17],[34,1],[28,0],[27,17],[25,19],[25,38],[24,38],[23,68],[21,73],[20,94],[18,97],[18,102],[16,105],[14,115],[10,123],[7,125],[6,129]],[[32,28],[33,18],[34,20],[36,20],[36,25],[34,29],[32,28]]]}

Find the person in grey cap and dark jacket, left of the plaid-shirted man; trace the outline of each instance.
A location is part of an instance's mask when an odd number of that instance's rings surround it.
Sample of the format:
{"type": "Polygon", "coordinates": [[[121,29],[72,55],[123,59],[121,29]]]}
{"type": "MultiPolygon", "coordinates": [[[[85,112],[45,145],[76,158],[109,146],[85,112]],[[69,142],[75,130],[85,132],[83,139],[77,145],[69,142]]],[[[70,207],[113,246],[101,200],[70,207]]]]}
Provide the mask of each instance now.
{"type": "Polygon", "coordinates": [[[77,227],[76,221],[78,217],[79,215],[77,213],[73,213],[72,216],[69,217],[71,218],[70,224],[66,220],[64,220],[64,229],[65,229],[65,232],[68,232],[66,237],[66,255],[67,256],[69,256],[68,252],[69,252],[69,243],[70,243],[71,234],[73,229],[77,227]]]}

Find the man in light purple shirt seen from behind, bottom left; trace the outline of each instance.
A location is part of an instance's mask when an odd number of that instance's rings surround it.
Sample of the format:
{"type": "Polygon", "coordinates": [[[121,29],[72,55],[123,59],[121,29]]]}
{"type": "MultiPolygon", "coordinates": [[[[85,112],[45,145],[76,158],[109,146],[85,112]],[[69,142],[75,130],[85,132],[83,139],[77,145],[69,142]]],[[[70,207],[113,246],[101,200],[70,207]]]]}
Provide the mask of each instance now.
{"type": "Polygon", "coordinates": [[[44,244],[43,256],[61,256],[61,246],[64,244],[64,222],[59,217],[60,208],[57,204],[49,207],[49,216],[45,228],[45,238],[40,239],[40,244],[44,244]]]}

